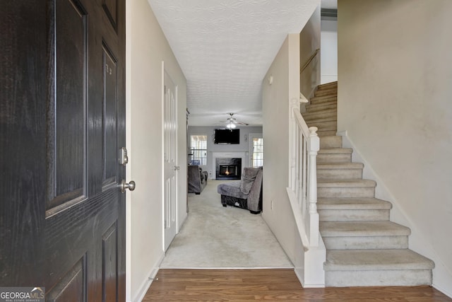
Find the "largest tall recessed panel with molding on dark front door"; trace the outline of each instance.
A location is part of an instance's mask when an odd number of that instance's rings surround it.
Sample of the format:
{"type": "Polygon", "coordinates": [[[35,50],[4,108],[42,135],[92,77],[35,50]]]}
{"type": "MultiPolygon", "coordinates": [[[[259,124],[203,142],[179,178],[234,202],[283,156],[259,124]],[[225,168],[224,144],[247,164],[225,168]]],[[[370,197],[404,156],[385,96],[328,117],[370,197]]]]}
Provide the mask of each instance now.
{"type": "Polygon", "coordinates": [[[80,2],[63,0],[51,4],[55,19],[49,24],[53,59],[49,60],[52,81],[47,111],[50,173],[46,210],[58,207],[56,211],[61,211],[87,194],[88,24],[87,12],[80,2]]]}

